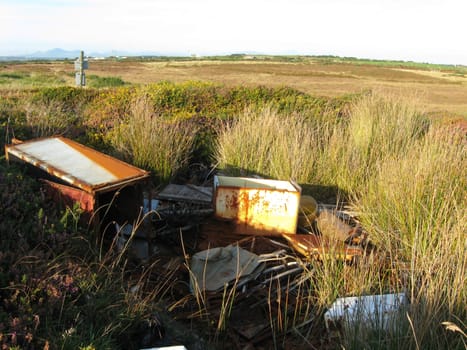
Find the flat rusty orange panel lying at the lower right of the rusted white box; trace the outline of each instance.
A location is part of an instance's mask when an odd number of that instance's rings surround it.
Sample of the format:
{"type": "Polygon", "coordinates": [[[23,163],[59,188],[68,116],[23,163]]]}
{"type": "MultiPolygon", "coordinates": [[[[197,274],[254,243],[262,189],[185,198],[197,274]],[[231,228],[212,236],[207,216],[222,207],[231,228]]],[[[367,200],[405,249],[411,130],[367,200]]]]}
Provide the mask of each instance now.
{"type": "Polygon", "coordinates": [[[327,258],[352,261],[363,255],[359,246],[347,245],[343,242],[329,241],[329,239],[314,234],[282,235],[292,248],[307,258],[324,260],[327,258]]]}

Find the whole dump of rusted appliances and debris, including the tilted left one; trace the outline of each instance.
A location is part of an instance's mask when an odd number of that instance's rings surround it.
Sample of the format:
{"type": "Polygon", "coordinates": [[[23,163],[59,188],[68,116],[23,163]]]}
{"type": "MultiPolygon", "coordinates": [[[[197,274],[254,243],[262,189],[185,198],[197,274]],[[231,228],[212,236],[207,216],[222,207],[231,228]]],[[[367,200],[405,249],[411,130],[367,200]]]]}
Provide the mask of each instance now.
{"type": "MultiPolygon", "coordinates": [[[[118,252],[143,268],[157,261],[148,278],[167,286],[167,311],[177,320],[208,317],[216,330],[228,320],[233,348],[254,349],[275,332],[309,325],[314,313],[301,309],[313,264],[353,264],[373,249],[355,215],[318,203],[293,181],[219,174],[207,185],[147,191],[148,172],[64,137],[17,142],[5,153],[58,202],[78,203],[96,228],[112,227],[118,252]]],[[[325,325],[387,329],[388,315],[405,303],[403,293],[338,298],[325,325]]]]}

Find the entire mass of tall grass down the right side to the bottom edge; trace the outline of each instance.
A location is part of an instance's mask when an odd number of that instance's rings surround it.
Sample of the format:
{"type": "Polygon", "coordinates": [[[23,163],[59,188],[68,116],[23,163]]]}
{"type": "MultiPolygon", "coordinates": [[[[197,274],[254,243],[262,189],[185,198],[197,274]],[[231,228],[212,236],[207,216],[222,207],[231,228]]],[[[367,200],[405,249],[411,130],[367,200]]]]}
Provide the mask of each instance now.
{"type": "Polygon", "coordinates": [[[430,125],[412,100],[381,94],[357,101],[332,133],[318,171],[349,194],[381,264],[348,290],[368,270],[348,278],[324,263],[315,270],[320,303],[398,291],[411,303],[396,334],[346,338],[346,348],[462,348],[462,339],[442,323],[467,316],[465,148],[464,135],[430,125]]]}

